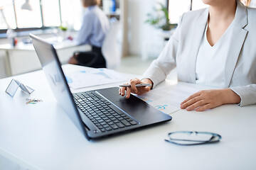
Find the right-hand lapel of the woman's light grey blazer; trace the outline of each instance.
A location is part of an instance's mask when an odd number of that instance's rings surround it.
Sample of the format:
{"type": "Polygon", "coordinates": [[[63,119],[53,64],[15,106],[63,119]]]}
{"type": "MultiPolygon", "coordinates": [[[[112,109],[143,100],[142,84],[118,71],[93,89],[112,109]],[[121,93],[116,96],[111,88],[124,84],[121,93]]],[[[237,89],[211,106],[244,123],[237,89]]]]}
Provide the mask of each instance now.
{"type": "Polygon", "coordinates": [[[240,1],[237,1],[237,3],[238,6],[233,21],[233,36],[232,39],[230,40],[228,57],[225,63],[225,87],[230,86],[231,79],[233,77],[233,72],[235,70],[235,66],[238,62],[238,57],[240,55],[242,45],[245,41],[248,32],[244,29],[245,26],[247,26],[247,9],[240,3],[240,1]]]}

